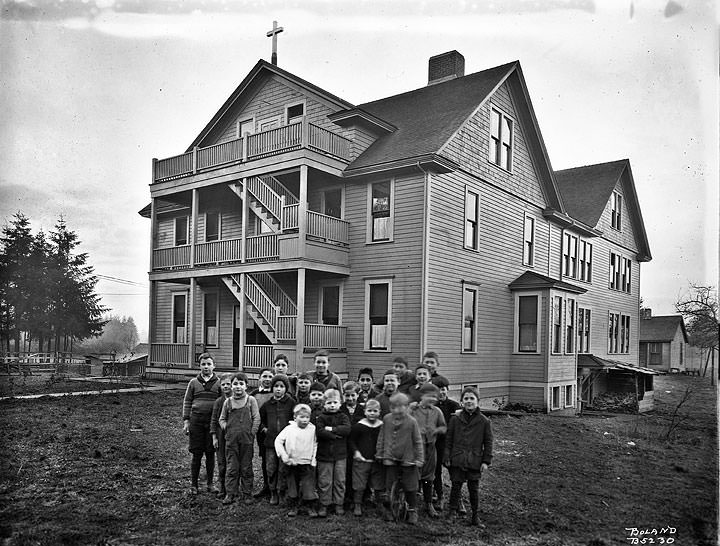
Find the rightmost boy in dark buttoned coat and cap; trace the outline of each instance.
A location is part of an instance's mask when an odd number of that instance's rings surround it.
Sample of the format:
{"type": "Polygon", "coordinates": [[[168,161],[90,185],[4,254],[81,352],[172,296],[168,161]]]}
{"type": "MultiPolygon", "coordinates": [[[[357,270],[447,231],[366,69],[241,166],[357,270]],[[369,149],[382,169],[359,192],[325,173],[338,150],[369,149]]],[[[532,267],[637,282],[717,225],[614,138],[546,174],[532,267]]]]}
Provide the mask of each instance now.
{"type": "Polygon", "coordinates": [[[480,525],[478,496],[480,477],[492,461],[493,435],[490,420],[478,408],[480,394],[465,387],[460,395],[462,411],[451,417],[445,437],[445,464],[450,470],[450,513],[459,507],[463,482],[468,484],[472,516],[470,525],[480,525]]]}

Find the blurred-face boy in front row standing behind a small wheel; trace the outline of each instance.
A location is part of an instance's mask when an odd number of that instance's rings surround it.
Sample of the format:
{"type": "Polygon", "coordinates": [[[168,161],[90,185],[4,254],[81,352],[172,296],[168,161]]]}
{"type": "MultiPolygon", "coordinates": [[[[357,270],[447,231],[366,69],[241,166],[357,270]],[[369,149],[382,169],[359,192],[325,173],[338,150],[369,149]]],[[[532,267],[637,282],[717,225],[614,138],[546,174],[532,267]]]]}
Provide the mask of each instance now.
{"type": "MultiPolygon", "coordinates": [[[[390,398],[390,413],[383,417],[383,426],[378,435],[375,458],[385,468],[385,489],[388,493],[393,484],[400,480],[408,503],[407,521],[415,525],[417,516],[418,469],[422,467],[422,436],[417,421],[408,413],[408,397],[402,393],[390,398]]],[[[385,508],[385,519],[390,519],[385,508]]]]}

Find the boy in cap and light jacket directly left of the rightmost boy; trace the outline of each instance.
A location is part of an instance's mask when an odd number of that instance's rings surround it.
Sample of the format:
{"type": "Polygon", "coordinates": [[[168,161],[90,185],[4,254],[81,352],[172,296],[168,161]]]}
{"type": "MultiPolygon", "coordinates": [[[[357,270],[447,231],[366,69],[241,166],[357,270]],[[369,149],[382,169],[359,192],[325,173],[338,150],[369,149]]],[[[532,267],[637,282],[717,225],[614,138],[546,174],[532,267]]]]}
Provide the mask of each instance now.
{"type": "MultiPolygon", "coordinates": [[[[428,374],[429,376],[429,374],[428,374]]],[[[420,469],[420,485],[425,502],[425,510],[431,518],[438,516],[435,507],[432,505],[432,487],[435,479],[435,465],[437,457],[435,452],[435,439],[438,434],[445,434],[445,417],[440,408],[435,406],[438,399],[439,389],[430,382],[420,387],[420,403],[410,410],[420,427],[420,435],[423,439],[425,451],[425,462],[420,469]]]]}

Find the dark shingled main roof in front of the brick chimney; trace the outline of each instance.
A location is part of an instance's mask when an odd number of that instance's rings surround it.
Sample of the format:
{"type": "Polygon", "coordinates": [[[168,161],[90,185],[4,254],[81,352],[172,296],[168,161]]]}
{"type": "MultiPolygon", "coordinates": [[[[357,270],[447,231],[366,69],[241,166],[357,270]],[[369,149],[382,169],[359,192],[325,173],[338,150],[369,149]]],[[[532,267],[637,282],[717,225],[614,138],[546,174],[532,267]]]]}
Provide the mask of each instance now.
{"type": "Polygon", "coordinates": [[[530,101],[522,69],[513,61],[481,72],[394,95],[358,106],[358,110],[396,128],[380,136],[345,170],[345,176],[389,169],[422,158],[442,159],[445,146],[507,82],[550,208],[566,221],[553,180],[545,143],[530,101]]]}

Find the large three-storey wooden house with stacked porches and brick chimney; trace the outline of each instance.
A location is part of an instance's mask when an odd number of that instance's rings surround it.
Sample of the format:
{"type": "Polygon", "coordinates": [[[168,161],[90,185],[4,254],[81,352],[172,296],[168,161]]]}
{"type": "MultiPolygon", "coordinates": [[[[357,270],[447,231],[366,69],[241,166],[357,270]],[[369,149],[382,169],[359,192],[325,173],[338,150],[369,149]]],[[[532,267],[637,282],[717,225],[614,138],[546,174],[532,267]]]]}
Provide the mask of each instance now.
{"type": "Polygon", "coordinates": [[[356,106],[261,60],[152,172],[150,373],[434,350],[486,406],[575,411],[648,371],[630,164],[553,171],[518,62],[356,106]]]}

